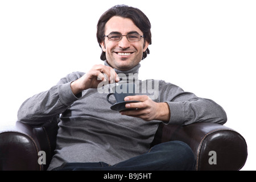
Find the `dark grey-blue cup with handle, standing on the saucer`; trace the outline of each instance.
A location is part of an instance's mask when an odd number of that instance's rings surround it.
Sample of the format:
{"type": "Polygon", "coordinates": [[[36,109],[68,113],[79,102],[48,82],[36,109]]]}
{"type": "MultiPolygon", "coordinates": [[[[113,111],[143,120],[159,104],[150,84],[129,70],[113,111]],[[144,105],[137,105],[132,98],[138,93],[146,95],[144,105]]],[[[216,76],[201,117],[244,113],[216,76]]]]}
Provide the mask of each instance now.
{"type": "Polygon", "coordinates": [[[125,101],[125,97],[127,96],[135,96],[135,84],[120,84],[120,85],[116,85],[114,86],[114,90],[113,93],[109,93],[108,96],[106,97],[106,100],[110,103],[110,104],[116,104],[118,102],[123,102],[125,101]],[[114,95],[115,97],[115,103],[111,102],[109,100],[109,97],[111,95],[114,95]]]}

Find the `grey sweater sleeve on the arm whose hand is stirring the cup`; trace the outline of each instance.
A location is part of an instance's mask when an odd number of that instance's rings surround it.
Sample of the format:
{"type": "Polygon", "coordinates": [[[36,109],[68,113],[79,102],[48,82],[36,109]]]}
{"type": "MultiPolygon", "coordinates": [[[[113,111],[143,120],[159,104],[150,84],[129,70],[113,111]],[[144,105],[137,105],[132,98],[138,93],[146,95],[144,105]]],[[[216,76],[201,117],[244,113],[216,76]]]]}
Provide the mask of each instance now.
{"type": "Polygon", "coordinates": [[[75,96],[71,90],[71,82],[77,80],[82,74],[72,73],[61,78],[57,85],[49,90],[28,98],[18,110],[18,120],[31,126],[42,126],[44,122],[59,119],[80,94],[75,96]]]}

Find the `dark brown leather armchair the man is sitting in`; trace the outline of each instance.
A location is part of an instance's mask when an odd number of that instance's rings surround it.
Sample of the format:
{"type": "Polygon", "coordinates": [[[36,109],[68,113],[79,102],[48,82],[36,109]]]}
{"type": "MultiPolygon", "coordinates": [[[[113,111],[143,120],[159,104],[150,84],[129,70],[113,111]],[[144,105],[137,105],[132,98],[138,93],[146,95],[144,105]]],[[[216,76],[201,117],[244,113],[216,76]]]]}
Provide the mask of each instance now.
{"type": "MultiPolygon", "coordinates": [[[[56,147],[57,123],[34,128],[17,121],[0,129],[0,170],[46,170],[56,147]],[[46,164],[39,164],[39,151],[46,164]]],[[[232,129],[214,123],[187,126],[160,124],[152,146],[181,140],[193,150],[196,170],[240,170],[247,159],[245,139],[232,129]]]]}

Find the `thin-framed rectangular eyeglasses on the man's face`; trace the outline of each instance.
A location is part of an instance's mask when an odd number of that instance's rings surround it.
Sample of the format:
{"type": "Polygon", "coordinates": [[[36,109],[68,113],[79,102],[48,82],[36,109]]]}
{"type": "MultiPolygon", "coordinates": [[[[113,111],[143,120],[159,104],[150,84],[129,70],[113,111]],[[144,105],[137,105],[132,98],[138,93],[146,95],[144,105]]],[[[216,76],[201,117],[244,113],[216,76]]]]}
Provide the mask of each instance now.
{"type": "Polygon", "coordinates": [[[144,35],[139,35],[137,32],[132,32],[127,35],[122,35],[121,33],[114,32],[110,33],[109,35],[105,35],[110,41],[118,42],[122,40],[123,36],[126,36],[127,40],[129,42],[137,42],[141,40],[141,38],[144,38],[144,35]]]}

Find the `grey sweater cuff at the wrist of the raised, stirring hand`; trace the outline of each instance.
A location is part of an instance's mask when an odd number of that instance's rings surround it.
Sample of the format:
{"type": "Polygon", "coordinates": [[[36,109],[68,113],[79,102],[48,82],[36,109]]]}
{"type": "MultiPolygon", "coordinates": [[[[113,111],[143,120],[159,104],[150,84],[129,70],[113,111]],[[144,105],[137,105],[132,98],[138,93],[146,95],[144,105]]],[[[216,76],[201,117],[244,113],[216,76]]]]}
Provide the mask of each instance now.
{"type": "Polygon", "coordinates": [[[58,88],[60,101],[66,106],[71,105],[81,97],[81,93],[77,94],[77,96],[73,94],[70,85],[71,82],[68,82],[67,84],[59,85],[58,88]]]}

